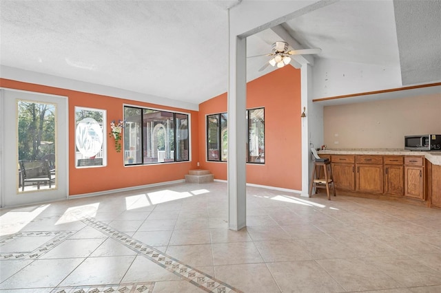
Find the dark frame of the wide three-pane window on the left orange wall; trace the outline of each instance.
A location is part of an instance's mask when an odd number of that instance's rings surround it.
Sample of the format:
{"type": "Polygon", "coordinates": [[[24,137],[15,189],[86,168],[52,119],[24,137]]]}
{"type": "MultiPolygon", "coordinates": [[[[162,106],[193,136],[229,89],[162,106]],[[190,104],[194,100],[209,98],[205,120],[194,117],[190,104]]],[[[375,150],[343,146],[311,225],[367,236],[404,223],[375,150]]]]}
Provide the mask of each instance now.
{"type": "MultiPolygon", "coordinates": [[[[124,121],[126,122],[126,118],[125,118],[125,109],[126,108],[132,108],[132,109],[140,109],[141,110],[141,162],[133,162],[131,164],[127,163],[127,160],[125,158],[125,151],[127,151],[125,149],[125,135],[123,135],[123,152],[124,152],[124,166],[150,166],[150,165],[155,165],[155,164],[173,164],[173,163],[179,163],[179,162],[191,162],[192,161],[192,151],[191,151],[191,113],[186,113],[186,112],[181,112],[181,111],[170,111],[170,110],[165,110],[165,109],[157,109],[157,108],[152,108],[152,107],[142,107],[139,105],[129,105],[129,104],[123,104],[123,115],[124,115],[124,121]],[[145,162],[145,144],[147,143],[147,138],[145,138],[145,129],[144,129],[144,111],[145,110],[152,110],[152,111],[157,111],[157,112],[167,112],[167,113],[171,113],[172,114],[172,121],[173,121],[173,149],[171,151],[173,151],[173,161],[164,161],[164,162],[145,162]],[[177,138],[177,133],[176,131],[178,131],[177,129],[177,123],[176,123],[176,119],[178,119],[176,116],[178,115],[185,115],[187,116],[187,140],[188,140],[188,158],[187,159],[176,159],[176,147],[177,147],[177,142],[176,142],[176,138],[177,138]]],[[[182,118],[179,118],[182,119],[182,118]]],[[[124,126],[124,131],[125,131],[125,126],[124,126]]],[[[130,150],[128,150],[130,151],[130,150]]]]}

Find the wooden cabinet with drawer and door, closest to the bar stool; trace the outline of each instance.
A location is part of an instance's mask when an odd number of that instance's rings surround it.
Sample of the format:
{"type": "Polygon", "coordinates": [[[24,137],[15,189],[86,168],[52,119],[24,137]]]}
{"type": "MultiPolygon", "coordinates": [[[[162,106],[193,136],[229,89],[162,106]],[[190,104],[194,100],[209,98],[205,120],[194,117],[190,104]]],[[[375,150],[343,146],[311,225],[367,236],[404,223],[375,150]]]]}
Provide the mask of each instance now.
{"type": "Polygon", "coordinates": [[[355,166],[353,155],[331,155],[332,175],[338,189],[355,190],[355,166]]]}

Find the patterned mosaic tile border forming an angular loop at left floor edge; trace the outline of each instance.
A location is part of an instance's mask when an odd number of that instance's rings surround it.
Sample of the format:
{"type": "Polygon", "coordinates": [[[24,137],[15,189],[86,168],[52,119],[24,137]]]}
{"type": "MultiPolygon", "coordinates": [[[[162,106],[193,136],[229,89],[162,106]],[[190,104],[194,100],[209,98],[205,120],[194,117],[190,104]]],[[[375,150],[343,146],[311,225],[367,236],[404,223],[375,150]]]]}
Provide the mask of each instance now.
{"type": "Polygon", "coordinates": [[[42,246],[26,252],[7,252],[1,253],[0,249],[0,260],[5,261],[8,259],[37,259],[41,257],[41,255],[50,251],[55,246],[59,245],[65,239],[70,237],[70,235],[74,234],[74,231],[45,231],[45,232],[18,232],[12,235],[8,235],[7,237],[2,237],[0,239],[0,248],[6,243],[18,239],[19,237],[48,237],[53,236],[50,241],[44,243],[42,246]]]}

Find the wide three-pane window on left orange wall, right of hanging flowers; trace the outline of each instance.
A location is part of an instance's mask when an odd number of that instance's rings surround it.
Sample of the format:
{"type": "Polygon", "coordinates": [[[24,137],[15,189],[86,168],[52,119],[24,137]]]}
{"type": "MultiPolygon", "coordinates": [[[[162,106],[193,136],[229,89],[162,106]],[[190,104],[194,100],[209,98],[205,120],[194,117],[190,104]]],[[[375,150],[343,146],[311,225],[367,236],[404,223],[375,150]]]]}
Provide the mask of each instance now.
{"type": "Polygon", "coordinates": [[[124,120],[126,165],[189,160],[187,114],[125,106],[124,120]]]}

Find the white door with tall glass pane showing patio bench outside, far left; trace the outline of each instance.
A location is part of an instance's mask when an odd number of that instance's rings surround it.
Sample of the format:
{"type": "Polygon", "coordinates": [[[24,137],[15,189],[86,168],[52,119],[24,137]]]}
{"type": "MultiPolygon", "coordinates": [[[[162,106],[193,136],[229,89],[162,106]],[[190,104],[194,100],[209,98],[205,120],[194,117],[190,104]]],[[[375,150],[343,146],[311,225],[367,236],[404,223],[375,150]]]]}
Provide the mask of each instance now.
{"type": "Polygon", "coordinates": [[[0,103],[0,206],[66,199],[68,98],[1,89],[0,103]]]}

